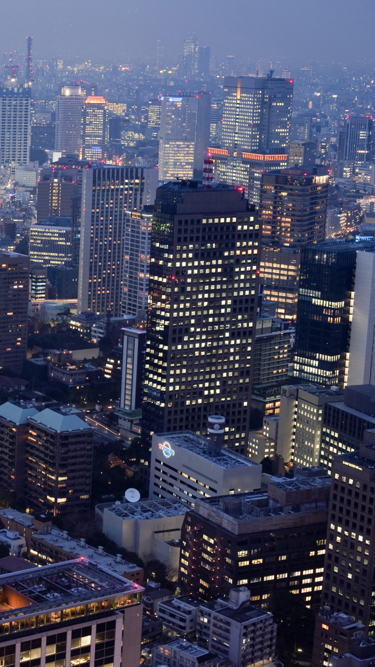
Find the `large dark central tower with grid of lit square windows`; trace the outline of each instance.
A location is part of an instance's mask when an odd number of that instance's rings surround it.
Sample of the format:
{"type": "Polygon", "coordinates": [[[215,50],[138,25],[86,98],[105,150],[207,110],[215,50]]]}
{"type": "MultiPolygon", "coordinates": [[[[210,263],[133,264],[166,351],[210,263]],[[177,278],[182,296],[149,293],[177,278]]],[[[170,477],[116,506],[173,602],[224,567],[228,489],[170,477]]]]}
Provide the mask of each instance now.
{"type": "Polygon", "coordinates": [[[233,428],[226,446],[246,452],[261,239],[242,195],[197,183],[157,190],[142,428],[203,434],[216,412],[233,428]]]}

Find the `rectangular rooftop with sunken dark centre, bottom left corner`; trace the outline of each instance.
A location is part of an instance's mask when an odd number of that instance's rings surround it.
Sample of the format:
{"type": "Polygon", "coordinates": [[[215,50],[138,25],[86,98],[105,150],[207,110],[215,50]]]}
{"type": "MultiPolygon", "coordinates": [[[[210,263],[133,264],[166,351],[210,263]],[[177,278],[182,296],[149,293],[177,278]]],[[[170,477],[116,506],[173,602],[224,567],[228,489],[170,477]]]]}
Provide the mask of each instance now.
{"type": "MultiPolygon", "coordinates": [[[[137,594],[143,591],[138,584],[133,584],[121,576],[112,574],[83,556],[41,568],[2,574],[0,588],[3,606],[0,634],[9,632],[9,628],[7,629],[6,626],[1,628],[1,625],[11,620],[15,621],[14,632],[22,630],[23,624],[19,622],[20,616],[35,616],[39,611],[69,609],[77,605],[89,604],[93,600],[105,600],[115,596],[119,596],[121,600],[117,599],[113,606],[121,607],[137,602],[137,594]],[[7,587],[19,593],[17,608],[11,607],[7,602],[9,600],[7,587]]],[[[11,600],[14,599],[15,596],[11,596],[11,600]]],[[[93,611],[87,610],[88,613],[93,613],[93,611]]],[[[70,614],[67,614],[66,618],[68,617],[70,614]]],[[[44,615],[42,618],[41,622],[44,624],[46,622],[44,615]]],[[[53,622],[52,618],[51,622],[53,622]]]]}

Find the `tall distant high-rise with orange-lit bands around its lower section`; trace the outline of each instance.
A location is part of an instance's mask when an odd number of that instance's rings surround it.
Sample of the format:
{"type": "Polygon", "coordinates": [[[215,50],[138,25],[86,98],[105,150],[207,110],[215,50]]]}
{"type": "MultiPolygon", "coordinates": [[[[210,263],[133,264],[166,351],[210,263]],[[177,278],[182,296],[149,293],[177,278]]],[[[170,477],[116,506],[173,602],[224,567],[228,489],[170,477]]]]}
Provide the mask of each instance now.
{"type": "Polygon", "coordinates": [[[266,77],[226,77],[218,182],[244,188],[259,204],[264,171],[288,165],[293,81],[266,77]]]}

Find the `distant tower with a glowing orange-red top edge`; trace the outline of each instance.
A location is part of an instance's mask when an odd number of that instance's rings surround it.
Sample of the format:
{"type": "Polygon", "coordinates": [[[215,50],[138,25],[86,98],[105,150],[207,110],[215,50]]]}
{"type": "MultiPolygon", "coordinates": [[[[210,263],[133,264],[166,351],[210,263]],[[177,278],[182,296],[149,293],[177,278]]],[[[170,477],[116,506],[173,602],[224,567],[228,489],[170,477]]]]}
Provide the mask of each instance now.
{"type": "Polygon", "coordinates": [[[87,97],[82,112],[81,159],[104,161],[107,154],[107,109],[104,97],[87,97]]]}

